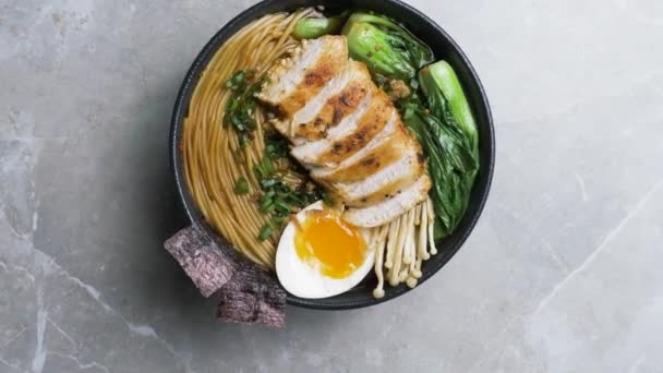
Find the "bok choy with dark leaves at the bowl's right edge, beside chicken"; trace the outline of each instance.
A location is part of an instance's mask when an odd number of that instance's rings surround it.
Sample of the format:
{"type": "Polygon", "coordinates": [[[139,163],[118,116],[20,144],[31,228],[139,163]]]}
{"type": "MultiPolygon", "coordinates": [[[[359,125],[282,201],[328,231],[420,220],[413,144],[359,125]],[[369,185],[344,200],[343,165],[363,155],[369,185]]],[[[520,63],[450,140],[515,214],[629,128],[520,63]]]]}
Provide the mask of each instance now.
{"type": "Polygon", "coordinates": [[[451,67],[435,62],[419,73],[426,104],[413,95],[401,105],[403,121],[424,149],[433,181],[436,238],[462,218],[479,171],[477,124],[451,67]]]}

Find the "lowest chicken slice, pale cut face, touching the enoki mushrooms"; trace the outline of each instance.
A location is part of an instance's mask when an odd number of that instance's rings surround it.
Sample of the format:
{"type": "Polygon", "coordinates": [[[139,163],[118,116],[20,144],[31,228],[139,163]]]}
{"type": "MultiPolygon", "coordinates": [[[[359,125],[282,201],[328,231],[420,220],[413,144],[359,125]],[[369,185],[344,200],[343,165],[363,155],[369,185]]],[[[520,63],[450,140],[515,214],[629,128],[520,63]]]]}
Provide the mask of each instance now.
{"type": "Polygon", "coordinates": [[[363,208],[349,208],[343,219],[357,227],[372,228],[389,222],[426,198],[431,179],[423,175],[407,189],[382,203],[363,208]]]}

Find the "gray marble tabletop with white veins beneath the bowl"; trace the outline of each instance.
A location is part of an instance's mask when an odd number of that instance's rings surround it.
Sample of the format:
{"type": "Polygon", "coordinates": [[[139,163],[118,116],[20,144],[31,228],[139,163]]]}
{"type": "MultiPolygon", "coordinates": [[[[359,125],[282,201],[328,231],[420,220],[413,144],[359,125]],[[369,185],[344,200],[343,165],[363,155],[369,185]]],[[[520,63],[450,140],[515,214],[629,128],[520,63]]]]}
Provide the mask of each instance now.
{"type": "Polygon", "coordinates": [[[663,3],[413,1],[473,61],[497,167],[431,281],[214,321],[161,242],[169,117],[252,1],[0,1],[0,372],[663,371],[663,3]]]}

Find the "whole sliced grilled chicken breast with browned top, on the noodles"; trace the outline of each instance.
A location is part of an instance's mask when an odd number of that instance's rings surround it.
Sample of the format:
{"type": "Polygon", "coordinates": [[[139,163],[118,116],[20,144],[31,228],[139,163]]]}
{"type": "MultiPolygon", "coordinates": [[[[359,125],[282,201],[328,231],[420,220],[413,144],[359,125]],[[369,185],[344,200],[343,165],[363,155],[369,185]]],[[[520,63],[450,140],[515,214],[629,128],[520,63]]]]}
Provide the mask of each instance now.
{"type": "Polygon", "coordinates": [[[292,156],[349,207],[346,219],[376,227],[423,201],[431,180],[389,97],[347,55],[345,37],[306,41],[258,97],[278,107],[292,156]]]}

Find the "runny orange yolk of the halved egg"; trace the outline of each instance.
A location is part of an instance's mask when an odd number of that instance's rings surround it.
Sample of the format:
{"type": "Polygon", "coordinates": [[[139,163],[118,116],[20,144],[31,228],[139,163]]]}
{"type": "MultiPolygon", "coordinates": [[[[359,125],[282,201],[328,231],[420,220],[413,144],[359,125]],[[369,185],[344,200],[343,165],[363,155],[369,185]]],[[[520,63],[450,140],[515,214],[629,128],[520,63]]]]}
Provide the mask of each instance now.
{"type": "Polygon", "coordinates": [[[366,257],[366,242],[361,232],[334,212],[308,212],[303,222],[296,222],[296,228],[297,254],[324,276],[348,277],[366,257]]]}

